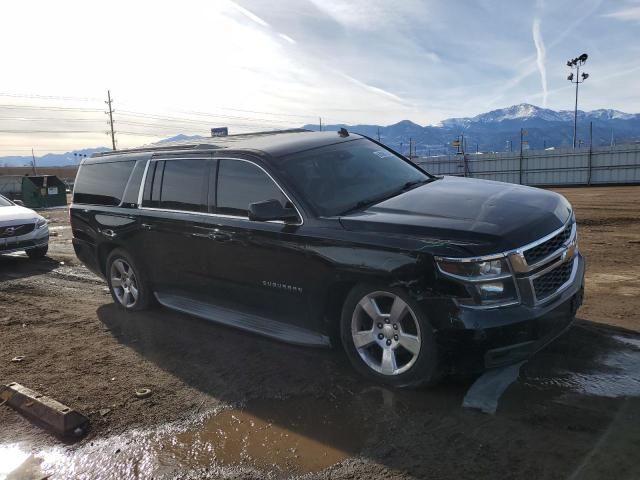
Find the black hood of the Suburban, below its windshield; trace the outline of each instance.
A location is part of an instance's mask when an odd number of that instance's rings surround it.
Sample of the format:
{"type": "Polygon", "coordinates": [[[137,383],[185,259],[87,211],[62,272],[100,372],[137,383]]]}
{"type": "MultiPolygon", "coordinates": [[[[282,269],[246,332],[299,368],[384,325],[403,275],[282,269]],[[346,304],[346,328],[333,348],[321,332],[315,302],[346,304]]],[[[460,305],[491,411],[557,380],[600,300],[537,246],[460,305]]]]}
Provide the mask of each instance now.
{"type": "Polygon", "coordinates": [[[521,247],[560,228],[571,216],[562,196],[539,188],[444,177],[344,216],[347,230],[448,241],[469,256],[521,247]]]}

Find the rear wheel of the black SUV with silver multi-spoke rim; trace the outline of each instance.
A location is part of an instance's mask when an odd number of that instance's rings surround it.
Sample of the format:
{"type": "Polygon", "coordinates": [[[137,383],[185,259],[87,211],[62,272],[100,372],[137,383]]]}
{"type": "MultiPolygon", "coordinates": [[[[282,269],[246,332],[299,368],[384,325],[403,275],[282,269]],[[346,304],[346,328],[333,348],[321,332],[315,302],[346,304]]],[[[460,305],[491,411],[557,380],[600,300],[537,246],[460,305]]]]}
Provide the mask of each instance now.
{"type": "Polygon", "coordinates": [[[153,293],[144,272],[122,249],[107,257],[105,273],[113,301],[129,311],[147,310],[153,303],[153,293]]]}

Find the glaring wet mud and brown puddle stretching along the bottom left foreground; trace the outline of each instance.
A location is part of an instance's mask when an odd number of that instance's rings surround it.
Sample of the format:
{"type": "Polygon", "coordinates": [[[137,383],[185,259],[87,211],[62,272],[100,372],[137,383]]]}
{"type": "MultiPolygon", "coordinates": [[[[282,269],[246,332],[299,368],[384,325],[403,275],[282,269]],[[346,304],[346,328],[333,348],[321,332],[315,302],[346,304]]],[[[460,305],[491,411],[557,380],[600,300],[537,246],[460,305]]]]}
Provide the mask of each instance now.
{"type": "Polygon", "coordinates": [[[366,425],[354,402],[265,399],[222,410],[186,428],[133,431],[78,448],[40,451],[29,460],[55,478],[171,478],[177,472],[239,471],[289,476],[317,472],[356,455],[367,438],[366,425]]]}

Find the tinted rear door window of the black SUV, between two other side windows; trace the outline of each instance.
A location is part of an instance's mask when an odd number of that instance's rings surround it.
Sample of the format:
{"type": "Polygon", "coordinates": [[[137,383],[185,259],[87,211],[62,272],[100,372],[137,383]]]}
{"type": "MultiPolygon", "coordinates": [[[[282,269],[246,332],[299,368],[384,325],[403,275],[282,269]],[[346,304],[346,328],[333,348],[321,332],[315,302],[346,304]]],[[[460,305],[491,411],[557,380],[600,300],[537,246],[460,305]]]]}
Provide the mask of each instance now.
{"type": "Polygon", "coordinates": [[[207,211],[207,160],[160,160],[151,162],[142,206],[183,210],[207,211]]]}

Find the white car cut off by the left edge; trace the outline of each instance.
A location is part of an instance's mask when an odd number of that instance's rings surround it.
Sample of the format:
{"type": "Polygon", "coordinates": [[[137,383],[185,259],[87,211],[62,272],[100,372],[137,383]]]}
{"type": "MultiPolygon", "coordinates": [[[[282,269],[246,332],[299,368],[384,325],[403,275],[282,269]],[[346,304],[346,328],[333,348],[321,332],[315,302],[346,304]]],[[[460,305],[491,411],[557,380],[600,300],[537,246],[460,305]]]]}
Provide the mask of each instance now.
{"type": "Polygon", "coordinates": [[[0,255],[25,251],[29,258],[42,258],[49,250],[48,222],[17,202],[0,195],[0,255]]]}

